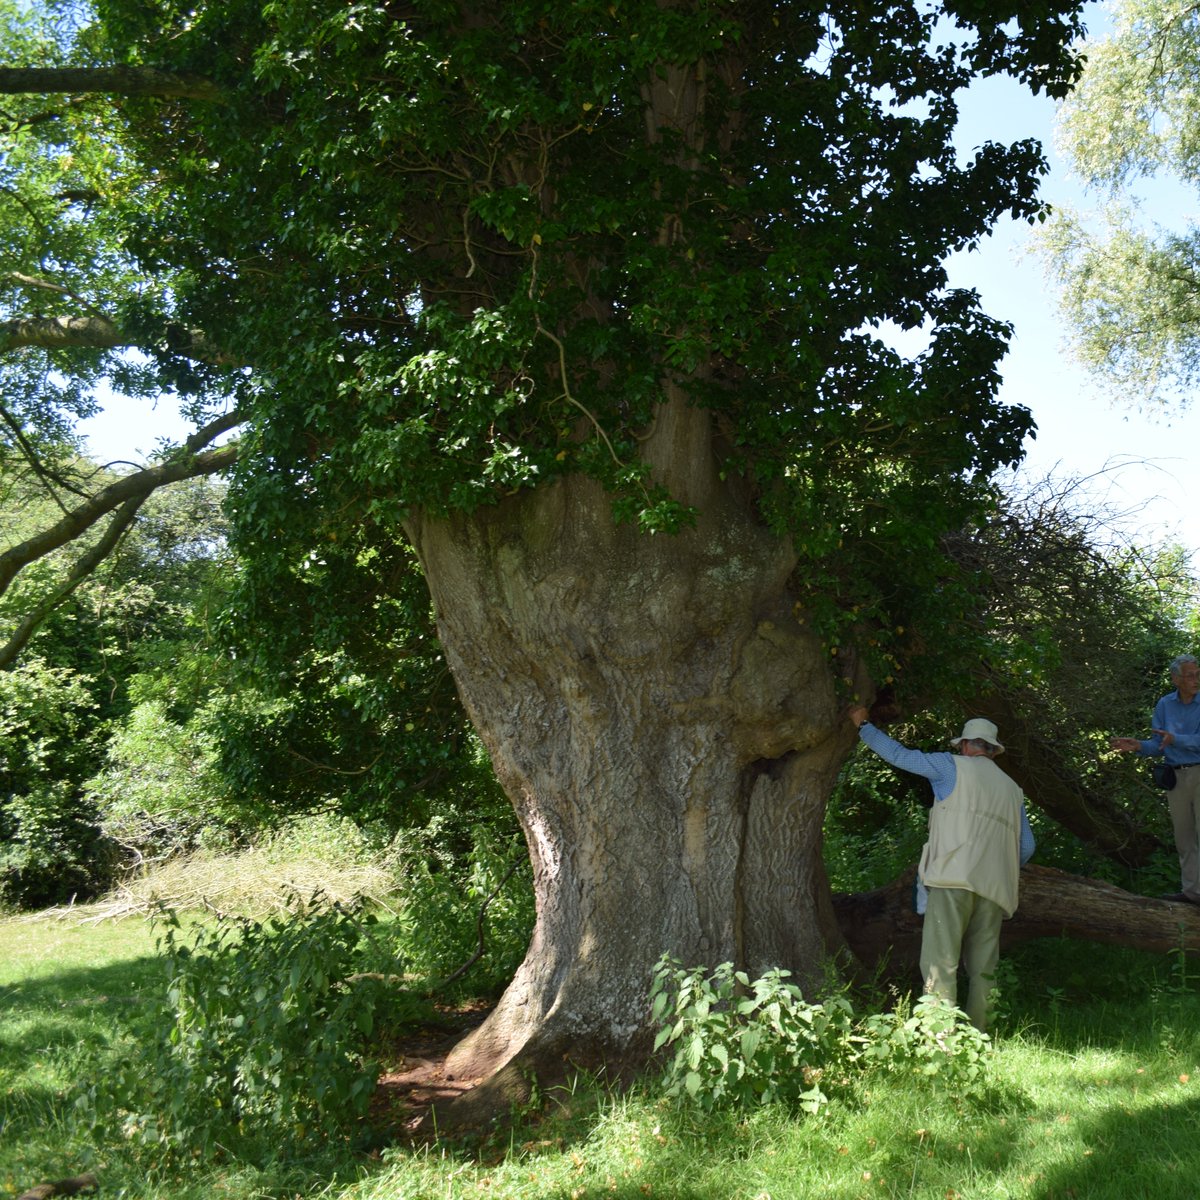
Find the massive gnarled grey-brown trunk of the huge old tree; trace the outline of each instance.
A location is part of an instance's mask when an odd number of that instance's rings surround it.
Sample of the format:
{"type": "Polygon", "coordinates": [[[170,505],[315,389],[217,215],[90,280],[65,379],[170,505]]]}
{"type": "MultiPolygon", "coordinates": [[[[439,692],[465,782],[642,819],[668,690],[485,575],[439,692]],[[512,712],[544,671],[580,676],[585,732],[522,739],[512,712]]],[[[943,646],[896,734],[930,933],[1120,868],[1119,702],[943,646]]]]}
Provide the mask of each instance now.
{"type": "Polygon", "coordinates": [[[409,533],[538,907],[449,1069],[636,1062],[664,953],[812,982],[841,944],[821,826],[853,731],[790,548],[727,497],[677,536],[616,527],[582,479],[409,533]]]}

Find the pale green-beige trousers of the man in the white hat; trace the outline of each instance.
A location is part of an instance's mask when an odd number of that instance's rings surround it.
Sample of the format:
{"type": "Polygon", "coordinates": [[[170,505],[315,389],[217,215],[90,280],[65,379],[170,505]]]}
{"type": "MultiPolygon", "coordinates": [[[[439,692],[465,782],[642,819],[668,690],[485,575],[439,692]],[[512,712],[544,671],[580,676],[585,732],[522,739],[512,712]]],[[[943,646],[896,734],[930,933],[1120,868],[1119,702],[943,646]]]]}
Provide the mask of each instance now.
{"type": "Polygon", "coordinates": [[[964,1006],[977,1030],[988,1028],[988,994],[1000,961],[1004,911],[965,888],[930,888],[920,936],[920,974],[925,991],[952,1004],[959,1000],[959,960],[967,968],[964,1006]]]}

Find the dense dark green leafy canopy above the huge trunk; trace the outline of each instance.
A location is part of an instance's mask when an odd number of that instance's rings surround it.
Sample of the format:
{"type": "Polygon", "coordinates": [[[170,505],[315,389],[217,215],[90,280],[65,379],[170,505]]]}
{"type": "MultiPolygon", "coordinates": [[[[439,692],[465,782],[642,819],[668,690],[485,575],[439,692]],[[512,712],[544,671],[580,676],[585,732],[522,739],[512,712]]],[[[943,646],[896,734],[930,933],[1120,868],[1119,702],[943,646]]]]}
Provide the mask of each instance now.
{"type": "Polygon", "coordinates": [[[1010,7],[102,4],[14,66],[140,88],[4,80],[71,90],[13,109],[53,222],[10,326],[37,286],[43,319],[107,322],[202,408],[252,396],[240,524],[266,558],[314,500],[344,536],[576,472],[678,528],[686,480],[640,452],[668,385],[863,606],[1030,428],[994,402],[1009,331],[941,265],[1040,211],[1034,142],[952,143],[973,74],[1074,77],[1078,6],[1010,7]],[[100,216],[95,274],[59,242],[100,216]]]}

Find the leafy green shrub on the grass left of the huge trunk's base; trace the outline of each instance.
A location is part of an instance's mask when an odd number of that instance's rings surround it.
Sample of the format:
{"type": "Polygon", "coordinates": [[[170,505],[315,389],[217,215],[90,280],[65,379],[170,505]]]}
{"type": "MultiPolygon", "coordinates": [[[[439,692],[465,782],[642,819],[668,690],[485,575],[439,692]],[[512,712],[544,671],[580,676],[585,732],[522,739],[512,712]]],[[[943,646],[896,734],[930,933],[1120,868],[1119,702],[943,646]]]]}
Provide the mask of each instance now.
{"type": "Polygon", "coordinates": [[[313,898],[190,934],[174,913],[161,920],[168,1019],[149,1069],[127,1062],[116,1104],[97,1111],[133,1114],[126,1135],[168,1156],[275,1156],[349,1136],[374,1090],[366,1046],[388,988],[359,976],[374,918],[313,898]]]}

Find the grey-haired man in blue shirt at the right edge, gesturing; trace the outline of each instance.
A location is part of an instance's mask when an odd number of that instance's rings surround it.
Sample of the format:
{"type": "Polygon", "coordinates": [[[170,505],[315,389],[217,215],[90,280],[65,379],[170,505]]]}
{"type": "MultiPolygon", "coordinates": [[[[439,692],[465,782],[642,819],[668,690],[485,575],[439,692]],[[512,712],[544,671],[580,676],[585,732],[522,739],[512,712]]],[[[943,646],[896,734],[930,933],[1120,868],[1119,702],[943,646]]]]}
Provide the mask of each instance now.
{"type": "Polygon", "coordinates": [[[1151,737],[1114,738],[1109,744],[1123,754],[1162,755],[1175,768],[1175,786],[1166,793],[1180,854],[1182,892],[1165,899],[1200,904],[1200,664],[1190,654],[1171,662],[1169,692],[1154,706],[1151,737]]]}

